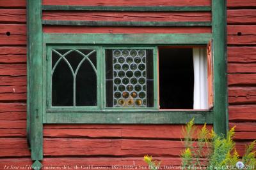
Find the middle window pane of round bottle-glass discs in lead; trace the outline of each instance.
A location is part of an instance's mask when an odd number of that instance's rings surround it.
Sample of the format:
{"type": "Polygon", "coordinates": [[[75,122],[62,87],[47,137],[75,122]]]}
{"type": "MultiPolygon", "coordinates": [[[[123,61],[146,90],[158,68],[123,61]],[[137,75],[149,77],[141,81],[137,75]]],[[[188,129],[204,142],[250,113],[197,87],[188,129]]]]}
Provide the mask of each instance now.
{"type": "Polygon", "coordinates": [[[106,106],[154,107],[153,50],[106,50],[106,106]]]}

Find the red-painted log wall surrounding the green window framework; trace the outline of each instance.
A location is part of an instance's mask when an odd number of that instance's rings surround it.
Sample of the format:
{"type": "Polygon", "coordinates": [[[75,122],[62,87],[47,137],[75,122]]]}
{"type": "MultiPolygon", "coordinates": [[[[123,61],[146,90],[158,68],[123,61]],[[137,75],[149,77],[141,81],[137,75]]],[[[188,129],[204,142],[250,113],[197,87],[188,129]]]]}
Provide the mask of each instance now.
{"type": "MultiPolygon", "coordinates": [[[[61,1],[44,4],[203,5],[210,0],[61,1]]],[[[228,0],[228,102],[230,126],[236,127],[237,150],[256,138],[256,1],[228,0]],[[241,33],[239,33],[241,32],[241,33]]],[[[44,19],[71,20],[211,20],[211,13],[44,12],[44,19]],[[139,15],[140,14],[140,15],[139,15]],[[150,18],[148,18],[150,15],[150,18]]],[[[44,27],[44,32],[198,33],[209,27],[44,27]]],[[[180,125],[45,125],[44,166],[146,164],[150,154],[163,164],[179,165],[180,125]]],[[[26,0],[0,1],[0,169],[30,165],[26,143],[26,0]],[[10,34],[9,34],[10,33],[10,34]]]]}

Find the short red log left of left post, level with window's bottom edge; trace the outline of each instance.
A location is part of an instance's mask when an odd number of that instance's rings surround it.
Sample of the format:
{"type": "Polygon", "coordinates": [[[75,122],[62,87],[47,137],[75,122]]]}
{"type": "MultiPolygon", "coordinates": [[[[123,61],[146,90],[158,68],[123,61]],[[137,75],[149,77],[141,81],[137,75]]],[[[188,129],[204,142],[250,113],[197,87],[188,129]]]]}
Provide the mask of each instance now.
{"type": "Polygon", "coordinates": [[[26,103],[0,103],[0,120],[26,120],[26,103]]]}

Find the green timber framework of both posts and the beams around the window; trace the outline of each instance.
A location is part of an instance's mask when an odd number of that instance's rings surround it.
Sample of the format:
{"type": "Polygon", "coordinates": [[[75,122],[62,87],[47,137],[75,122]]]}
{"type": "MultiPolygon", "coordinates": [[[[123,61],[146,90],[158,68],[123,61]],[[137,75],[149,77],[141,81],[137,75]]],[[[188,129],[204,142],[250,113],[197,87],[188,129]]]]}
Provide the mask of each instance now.
{"type": "Polygon", "coordinates": [[[42,0],[27,4],[27,139],[33,169],[42,167],[44,124],[184,124],[195,118],[196,124],[213,124],[217,134],[228,131],[227,97],[227,0],[212,0],[211,6],[42,6],[42,0]],[[43,20],[43,10],[100,11],[211,11],[211,22],[111,22],[43,20]],[[212,34],[45,34],[43,25],[85,25],[124,27],[211,27],[212,34]],[[46,45],[206,45],[212,38],[214,108],[211,111],[140,111],[139,113],[46,113],[46,45]],[[70,41],[72,39],[73,41],[70,41]],[[125,41],[122,41],[125,39],[125,41]],[[128,42],[129,42],[128,41],[128,42]],[[149,43],[150,42],[150,43],[149,43]]]}

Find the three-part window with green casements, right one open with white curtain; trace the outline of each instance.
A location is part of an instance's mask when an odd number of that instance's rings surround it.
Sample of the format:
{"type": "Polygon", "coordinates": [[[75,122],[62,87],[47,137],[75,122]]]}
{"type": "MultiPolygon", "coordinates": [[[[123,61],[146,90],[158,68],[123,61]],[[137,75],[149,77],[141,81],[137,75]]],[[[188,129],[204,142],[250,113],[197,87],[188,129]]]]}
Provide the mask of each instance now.
{"type": "Polygon", "coordinates": [[[209,109],[205,46],[58,45],[47,52],[52,110],[209,109]]]}

